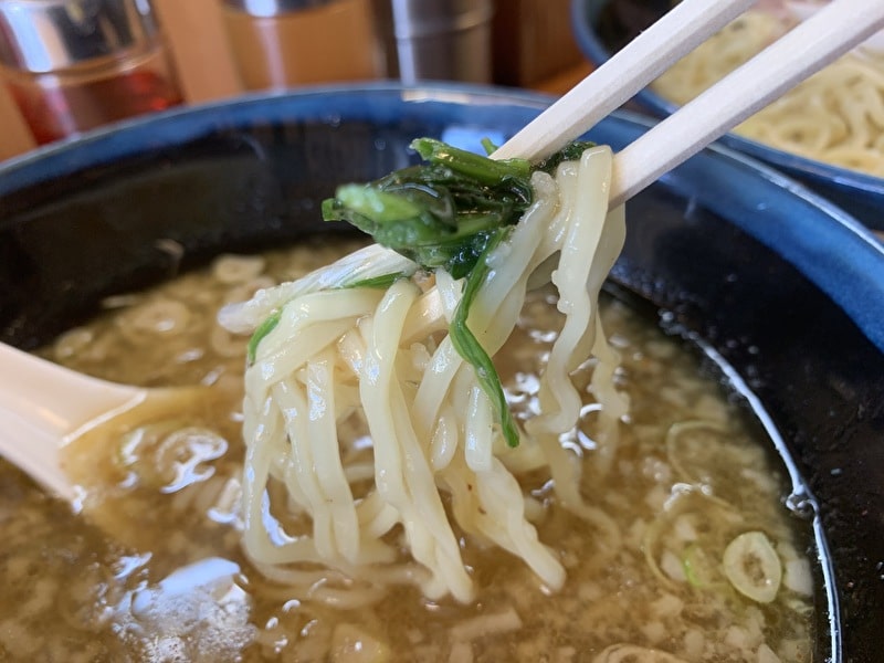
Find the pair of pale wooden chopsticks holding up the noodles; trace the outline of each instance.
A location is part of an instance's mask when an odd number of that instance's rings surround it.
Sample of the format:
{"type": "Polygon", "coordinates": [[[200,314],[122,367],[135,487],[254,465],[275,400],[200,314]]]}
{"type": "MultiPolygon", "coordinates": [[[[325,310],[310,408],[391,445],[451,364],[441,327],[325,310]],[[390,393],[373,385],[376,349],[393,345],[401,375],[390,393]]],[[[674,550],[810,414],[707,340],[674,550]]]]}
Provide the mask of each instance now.
{"type": "MultiPolygon", "coordinates": [[[[581,81],[493,158],[536,159],[589,130],[754,0],[683,0],[581,81]]],[[[614,157],[611,206],[719,138],[884,28],[884,0],[833,0],[614,157]]]]}

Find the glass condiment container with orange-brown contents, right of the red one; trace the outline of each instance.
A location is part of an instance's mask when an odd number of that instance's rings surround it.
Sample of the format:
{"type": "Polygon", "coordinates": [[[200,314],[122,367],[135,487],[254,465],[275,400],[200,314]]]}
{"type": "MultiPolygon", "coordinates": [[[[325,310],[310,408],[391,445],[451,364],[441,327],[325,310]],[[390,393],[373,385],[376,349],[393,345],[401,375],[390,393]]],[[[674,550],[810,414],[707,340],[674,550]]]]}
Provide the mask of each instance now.
{"type": "Polygon", "coordinates": [[[221,12],[248,90],[383,73],[371,0],[221,0],[221,12]]]}

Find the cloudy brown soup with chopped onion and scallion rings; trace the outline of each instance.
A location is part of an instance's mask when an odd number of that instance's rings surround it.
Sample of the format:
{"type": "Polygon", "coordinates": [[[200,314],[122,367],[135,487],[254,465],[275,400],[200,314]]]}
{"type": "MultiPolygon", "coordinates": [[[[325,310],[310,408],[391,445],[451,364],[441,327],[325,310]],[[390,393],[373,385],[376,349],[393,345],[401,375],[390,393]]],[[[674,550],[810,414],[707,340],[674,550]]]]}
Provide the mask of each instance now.
{"type": "MultiPolygon", "coordinates": [[[[545,480],[524,485],[540,539],[568,570],[561,591],[466,537],[480,588],[470,606],[403,588],[341,610],[263,578],[239,545],[246,339],[215,314],[354,248],[222,256],[107,301],[99,319],[43,349],[106,379],[207,390],[99,446],[74,443],[66,462],[84,486],[80,514],[0,463],[0,660],[810,660],[809,538],[783,506],[783,473],[738,399],[615,301],[603,319],[622,356],[615,379],[629,418],[604,462],[590,396],[562,440],[582,459],[583,495],[607,525],[559,507],[545,480]]],[[[551,295],[533,293],[495,359],[518,417],[538,407],[557,325],[551,295]]],[[[588,385],[591,370],[576,380],[588,385]]]]}

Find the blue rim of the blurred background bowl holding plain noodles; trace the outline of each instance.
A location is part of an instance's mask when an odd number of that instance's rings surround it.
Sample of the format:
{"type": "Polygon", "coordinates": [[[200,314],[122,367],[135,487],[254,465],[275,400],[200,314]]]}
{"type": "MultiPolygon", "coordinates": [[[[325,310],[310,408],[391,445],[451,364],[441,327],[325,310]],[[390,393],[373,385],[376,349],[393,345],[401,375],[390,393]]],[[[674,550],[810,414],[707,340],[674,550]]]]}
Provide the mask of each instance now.
{"type": "MultiPolygon", "coordinates": [[[[602,64],[610,60],[611,52],[593,29],[598,11],[612,0],[571,0],[571,29],[578,45],[590,61],[602,64]]],[[[650,86],[635,95],[635,102],[659,118],[675,113],[678,105],[656,94],[650,86]]],[[[732,149],[748,154],[774,166],[799,171],[815,182],[835,182],[867,194],[884,197],[884,178],[833,166],[824,161],[785,151],[758,140],[727,133],[719,139],[732,149]]]]}

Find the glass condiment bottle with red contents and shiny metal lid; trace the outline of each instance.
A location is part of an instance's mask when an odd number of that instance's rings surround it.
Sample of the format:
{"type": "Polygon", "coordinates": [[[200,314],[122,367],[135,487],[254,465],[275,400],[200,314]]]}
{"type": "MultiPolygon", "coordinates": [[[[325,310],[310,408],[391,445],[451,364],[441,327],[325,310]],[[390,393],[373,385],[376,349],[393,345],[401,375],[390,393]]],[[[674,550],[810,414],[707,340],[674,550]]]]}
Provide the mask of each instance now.
{"type": "Polygon", "coordinates": [[[0,73],[39,144],[181,103],[150,0],[0,0],[0,73]]]}

